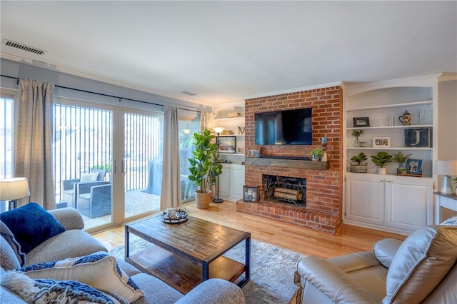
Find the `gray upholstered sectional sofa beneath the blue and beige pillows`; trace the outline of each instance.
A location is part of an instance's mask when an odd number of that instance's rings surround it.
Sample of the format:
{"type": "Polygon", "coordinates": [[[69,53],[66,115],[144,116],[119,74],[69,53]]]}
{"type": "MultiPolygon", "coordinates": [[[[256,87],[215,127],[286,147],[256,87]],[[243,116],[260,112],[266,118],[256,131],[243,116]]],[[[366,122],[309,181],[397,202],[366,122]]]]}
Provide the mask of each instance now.
{"type": "MultiPolygon", "coordinates": [[[[98,240],[86,233],[81,215],[74,208],[61,208],[49,211],[65,231],[59,233],[36,246],[26,254],[26,265],[74,258],[91,253],[104,252],[107,250],[98,240]]],[[[11,231],[9,231],[11,233],[11,231]]],[[[6,275],[7,270],[21,268],[20,258],[11,246],[8,236],[8,228],[1,223],[1,276],[6,275]]],[[[134,266],[124,260],[118,260],[122,270],[134,280],[136,285],[144,291],[144,297],[135,300],[135,304],[143,303],[245,303],[243,291],[237,285],[226,280],[210,279],[198,285],[186,295],[179,293],[158,278],[146,273],[141,273],[134,266]]],[[[2,282],[1,303],[26,303],[19,295],[4,287],[2,282]]]]}

